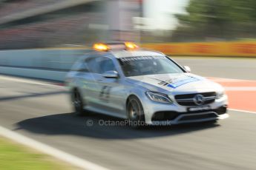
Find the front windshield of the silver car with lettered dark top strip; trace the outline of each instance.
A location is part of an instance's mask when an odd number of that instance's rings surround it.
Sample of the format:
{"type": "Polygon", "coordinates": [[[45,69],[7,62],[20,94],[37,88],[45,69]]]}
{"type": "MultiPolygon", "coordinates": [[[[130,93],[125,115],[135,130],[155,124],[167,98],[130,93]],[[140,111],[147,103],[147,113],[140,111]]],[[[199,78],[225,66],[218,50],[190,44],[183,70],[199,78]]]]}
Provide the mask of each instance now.
{"type": "Polygon", "coordinates": [[[119,58],[119,64],[126,77],[183,72],[183,69],[165,56],[119,58]]]}

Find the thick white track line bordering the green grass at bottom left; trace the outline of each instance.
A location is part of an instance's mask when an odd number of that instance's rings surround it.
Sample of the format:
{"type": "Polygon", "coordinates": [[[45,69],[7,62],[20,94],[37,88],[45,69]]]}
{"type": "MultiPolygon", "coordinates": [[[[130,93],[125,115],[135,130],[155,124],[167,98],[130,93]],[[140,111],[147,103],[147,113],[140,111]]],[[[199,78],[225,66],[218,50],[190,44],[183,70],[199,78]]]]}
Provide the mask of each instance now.
{"type": "Polygon", "coordinates": [[[51,146],[47,146],[44,143],[40,143],[29,137],[25,137],[24,135],[20,135],[2,126],[0,126],[0,135],[7,137],[10,140],[15,140],[17,143],[21,143],[24,146],[28,146],[32,149],[36,149],[39,152],[42,152],[44,154],[48,154],[52,157],[56,157],[57,159],[65,161],[66,163],[70,163],[70,165],[79,167],[80,169],[108,170],[102,166],[96,165],[95,163],[91,163],[88,160],[83,160],[79,157],[73,156],[72,154],[62,152],[59,149],[55,149],[51,146]]]}

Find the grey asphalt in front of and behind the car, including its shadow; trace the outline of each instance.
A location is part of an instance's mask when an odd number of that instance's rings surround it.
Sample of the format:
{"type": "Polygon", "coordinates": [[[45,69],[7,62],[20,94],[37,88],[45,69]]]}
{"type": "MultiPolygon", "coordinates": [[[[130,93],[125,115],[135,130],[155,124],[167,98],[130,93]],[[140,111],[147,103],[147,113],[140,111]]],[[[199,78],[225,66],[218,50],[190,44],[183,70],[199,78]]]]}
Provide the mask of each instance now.
{"type": "MultiPolygon", "coordinates": [[[[175,60],[207,77],[256,80],[252,59],[175,60]]],[[[75,117],[63,87],[0,78],[1,126],[108,169],[256,169],[256,114],[229,114],[215,124],[100,126],[119,119],[75,117]]]]}

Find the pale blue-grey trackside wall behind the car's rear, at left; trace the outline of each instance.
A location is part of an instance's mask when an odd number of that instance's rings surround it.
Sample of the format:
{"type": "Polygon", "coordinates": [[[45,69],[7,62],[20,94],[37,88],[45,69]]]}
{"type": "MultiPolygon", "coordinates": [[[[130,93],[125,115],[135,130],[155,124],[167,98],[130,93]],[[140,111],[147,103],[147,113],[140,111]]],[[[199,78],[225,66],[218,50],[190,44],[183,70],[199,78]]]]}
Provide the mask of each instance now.
{"type": "Polygon", "coordinates": [[[82,49],[35,49],[0,51],[0,74],[64,81],[82,49]]]}

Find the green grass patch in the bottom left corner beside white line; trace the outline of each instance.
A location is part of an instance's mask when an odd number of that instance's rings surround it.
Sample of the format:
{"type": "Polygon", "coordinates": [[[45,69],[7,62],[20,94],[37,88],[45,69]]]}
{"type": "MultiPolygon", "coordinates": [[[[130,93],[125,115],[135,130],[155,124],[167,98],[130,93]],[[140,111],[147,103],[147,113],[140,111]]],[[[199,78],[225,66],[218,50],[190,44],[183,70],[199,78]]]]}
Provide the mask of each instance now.
{"type": "Polygon", "coordinates": [[[0,169],[55,170],[68,168],[45,154],[36,153],[32,149],[27,149],[0,137],[0,169]]]}

